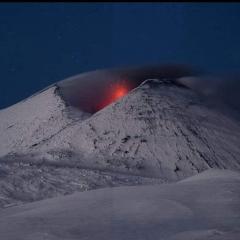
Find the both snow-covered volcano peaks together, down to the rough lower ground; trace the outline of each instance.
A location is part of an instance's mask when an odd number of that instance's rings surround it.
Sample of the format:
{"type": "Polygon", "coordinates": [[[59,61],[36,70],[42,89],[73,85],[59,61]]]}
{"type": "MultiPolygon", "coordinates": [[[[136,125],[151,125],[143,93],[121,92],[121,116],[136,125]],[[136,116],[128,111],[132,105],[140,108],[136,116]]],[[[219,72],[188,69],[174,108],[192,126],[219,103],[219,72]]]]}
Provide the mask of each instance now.
{"type": "Polygon", "coordinates": [[[92,116],[68,113],[56,87],[2,110],[1,155],[164,178],[240,167],[239,123],[176,81],[146,81],[92,116]]]}

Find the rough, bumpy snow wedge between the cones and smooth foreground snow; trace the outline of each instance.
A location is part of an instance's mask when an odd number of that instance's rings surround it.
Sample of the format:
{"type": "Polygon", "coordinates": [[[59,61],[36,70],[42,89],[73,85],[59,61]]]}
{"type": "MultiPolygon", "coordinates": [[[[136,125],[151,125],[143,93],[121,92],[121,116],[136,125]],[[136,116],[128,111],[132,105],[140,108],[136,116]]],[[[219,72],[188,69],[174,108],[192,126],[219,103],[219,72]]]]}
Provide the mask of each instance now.
{"type": "MultiPolygon", "coordinates": [[[[98,188],[161,184],[157,178],[86,169],[68,164],[0,163],[0,208],[98,188]]],[[[0,238],[1,239],[1,238],[0,238]]]]}

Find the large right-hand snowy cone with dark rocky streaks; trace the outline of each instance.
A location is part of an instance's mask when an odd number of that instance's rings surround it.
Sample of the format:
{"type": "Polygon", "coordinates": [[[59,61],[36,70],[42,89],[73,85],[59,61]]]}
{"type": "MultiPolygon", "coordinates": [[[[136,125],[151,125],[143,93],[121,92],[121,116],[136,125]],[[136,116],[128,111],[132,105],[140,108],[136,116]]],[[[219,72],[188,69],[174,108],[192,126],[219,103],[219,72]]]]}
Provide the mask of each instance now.
{"type": "Polygon", "coordinates": [[[191,89],[149,80],[31,152],[48,161],[174,180],[208,168],[239,169],[239,139],[239,123],[208,108],[191,89]],[[71,160],[61,157],[64,151],[71,160]]]}

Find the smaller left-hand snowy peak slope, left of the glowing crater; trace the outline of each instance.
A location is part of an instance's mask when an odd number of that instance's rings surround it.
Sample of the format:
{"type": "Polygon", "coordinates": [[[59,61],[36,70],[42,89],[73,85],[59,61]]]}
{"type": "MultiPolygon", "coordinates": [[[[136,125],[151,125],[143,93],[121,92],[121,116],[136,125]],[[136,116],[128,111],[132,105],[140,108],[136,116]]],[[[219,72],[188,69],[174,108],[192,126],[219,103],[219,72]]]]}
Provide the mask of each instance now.
{"type": "MultiPolygon", "coordinates": [[[[52,86],[0,111],[0,156],[28,150],[71,125],[71,108],[52,86]]],[[[88,114],[78,113],[78,122],[88,114]]]]}

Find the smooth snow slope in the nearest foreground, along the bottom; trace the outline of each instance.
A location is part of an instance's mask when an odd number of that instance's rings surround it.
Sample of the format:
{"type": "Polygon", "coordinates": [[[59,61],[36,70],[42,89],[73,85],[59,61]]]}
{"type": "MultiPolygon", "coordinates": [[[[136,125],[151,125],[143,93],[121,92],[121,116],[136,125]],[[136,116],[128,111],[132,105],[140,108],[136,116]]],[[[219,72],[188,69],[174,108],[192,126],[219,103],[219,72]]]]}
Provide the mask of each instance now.
{"type": "Polygon", "coordinates": [[[237,240],[240,174],[108,188],[0,210],[4,240],[237,240]]]}

